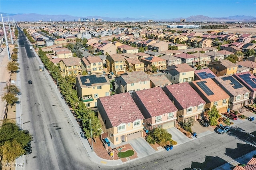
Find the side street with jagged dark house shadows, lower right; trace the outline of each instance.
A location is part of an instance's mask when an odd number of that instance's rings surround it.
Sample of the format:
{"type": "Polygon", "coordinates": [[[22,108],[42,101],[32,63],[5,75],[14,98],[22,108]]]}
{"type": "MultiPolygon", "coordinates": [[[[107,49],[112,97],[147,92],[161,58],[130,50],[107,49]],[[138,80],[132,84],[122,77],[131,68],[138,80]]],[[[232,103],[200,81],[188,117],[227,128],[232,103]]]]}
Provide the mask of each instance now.
{"type": "Polygon", "coordinates": [[[191,168],[201,168],[202,170],[212,170],[255,150],[256,137],[248,134],[255,129],[256,123],[247,121],[232,127],[227,134],[214,132],[191,142],[174,146],[173,150],[158,152],[116,169],[190,170],[191,168]]]}

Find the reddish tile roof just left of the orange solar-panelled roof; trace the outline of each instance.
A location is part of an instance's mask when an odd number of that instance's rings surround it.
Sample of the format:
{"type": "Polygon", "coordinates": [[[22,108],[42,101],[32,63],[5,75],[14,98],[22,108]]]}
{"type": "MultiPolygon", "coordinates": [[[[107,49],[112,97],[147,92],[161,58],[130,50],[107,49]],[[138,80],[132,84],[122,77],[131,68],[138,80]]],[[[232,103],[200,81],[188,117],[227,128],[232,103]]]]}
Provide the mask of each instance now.
{"type": "Polygon", "coordinates": [[[168,91],[173,95],[183,109],[188,107],[198,106],[200,104],[206,104],[206,102],[196,93],[196,91],[188,84],[188,82],[168,85],[166,86],[168,91]]]}

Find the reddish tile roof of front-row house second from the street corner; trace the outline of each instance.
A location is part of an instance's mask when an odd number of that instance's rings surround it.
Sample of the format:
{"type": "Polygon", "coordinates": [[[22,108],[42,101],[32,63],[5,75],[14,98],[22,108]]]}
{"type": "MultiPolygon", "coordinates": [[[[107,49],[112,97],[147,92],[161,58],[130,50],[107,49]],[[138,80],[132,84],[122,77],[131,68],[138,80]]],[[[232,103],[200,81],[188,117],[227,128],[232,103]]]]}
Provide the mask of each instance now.
{"type": "MultiPolygon", "coordinates": [[[[138,95],[140,102],[146,108],[151,117],[160,116],[164,113],[178,111],[169,97],[164,93],[161,87],[144,89],[134,92],[138,95]]],[[[136,100],[136,98],[134,99],[136,100]]],[[[143,113],[142,113],[143,114],[143,113]]]]}

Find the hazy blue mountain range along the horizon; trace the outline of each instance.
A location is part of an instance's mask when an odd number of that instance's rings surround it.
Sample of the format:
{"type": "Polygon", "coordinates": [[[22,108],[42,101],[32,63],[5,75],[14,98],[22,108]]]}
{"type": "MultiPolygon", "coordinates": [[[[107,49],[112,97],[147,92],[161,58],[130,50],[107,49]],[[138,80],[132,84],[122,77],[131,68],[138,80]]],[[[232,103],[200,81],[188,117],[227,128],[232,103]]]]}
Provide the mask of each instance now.
{"type": "MultiPolygon", "coordinates": [[[[6,14],[2,13],[1,14],[6,14]]],[[[150,18],[110,18],[104,16],[70,16],[70,15],[42,15],[42,14],[8,14],[15,21],[78,21],[79,18],[101,18],[106,21],[148,21],[150,18]]],[[[188,18],[166,18],[166,19],[156,19],[155,21],[180,21],[180,19],[186,19],[186,21],[212,21],[212,22],[234,22],[234,21],[256,21],[254,16],[228,16],[228,17],[219,17],[219,18],[210,18],[208,16],[197,15],[190,16],[188,18]]]]}

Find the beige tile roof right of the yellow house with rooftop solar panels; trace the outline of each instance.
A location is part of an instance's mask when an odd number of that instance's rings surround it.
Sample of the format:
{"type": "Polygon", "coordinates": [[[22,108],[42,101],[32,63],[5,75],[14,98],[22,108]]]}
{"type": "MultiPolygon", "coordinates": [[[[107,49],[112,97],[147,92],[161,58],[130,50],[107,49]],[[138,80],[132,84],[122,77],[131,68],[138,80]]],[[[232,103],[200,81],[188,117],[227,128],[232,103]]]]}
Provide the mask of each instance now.
{"type": "Polygon", "coordinates": [[[150,81],[150,77],[144,71],[133,71],[121,74],[121,77],[127,84],[137,83],[142,81],[150,81]]]}

